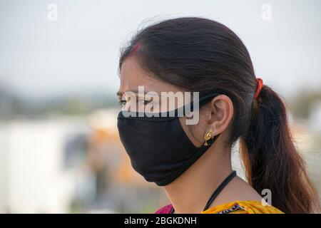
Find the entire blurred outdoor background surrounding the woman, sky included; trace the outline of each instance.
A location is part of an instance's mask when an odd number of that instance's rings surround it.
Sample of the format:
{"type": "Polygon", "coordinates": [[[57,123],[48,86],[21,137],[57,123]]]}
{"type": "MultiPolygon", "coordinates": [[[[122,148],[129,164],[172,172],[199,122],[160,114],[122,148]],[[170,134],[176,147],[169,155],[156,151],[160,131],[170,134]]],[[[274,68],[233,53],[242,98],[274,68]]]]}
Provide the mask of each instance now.
{"type": "Polygon", "coordinates": [[[321,192],[320,9],[318,0],[0,0],[0,212],[151,213],[168,203],[118,139],[117,66],[138,28],[178,16],[215,19],[245,42],[257,76],[287,103],[321,192]]]}

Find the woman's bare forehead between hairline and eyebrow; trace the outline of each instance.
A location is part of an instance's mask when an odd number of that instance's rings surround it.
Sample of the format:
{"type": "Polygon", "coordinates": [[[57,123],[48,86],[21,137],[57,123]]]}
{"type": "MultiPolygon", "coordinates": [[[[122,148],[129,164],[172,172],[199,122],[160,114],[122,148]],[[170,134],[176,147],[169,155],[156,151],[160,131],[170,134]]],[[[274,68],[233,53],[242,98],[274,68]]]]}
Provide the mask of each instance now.
{"type": "Polygon", "coordinates": [[[138,90],[138,86],[144,86],[146,92],[155,91],[156,93],[181,90],[177,86],[158,80],[151,73],[141,68],[136,58],[133,57],[126,58],[121,66],[120,73],[121,84],[119,92],[121,93],[138,90]]]}

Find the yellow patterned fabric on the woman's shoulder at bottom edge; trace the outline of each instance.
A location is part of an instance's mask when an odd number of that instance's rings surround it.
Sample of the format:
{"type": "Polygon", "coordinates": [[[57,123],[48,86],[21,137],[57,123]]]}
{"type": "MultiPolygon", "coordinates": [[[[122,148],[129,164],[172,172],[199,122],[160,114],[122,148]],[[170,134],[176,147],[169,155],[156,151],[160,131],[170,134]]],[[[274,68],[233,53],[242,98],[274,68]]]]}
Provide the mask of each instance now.
{"type": "Polygon", "coordinates": [[[234,201],[207,209],[202,214],[284,214],[275,207],[260,201],[234,201]]]}

